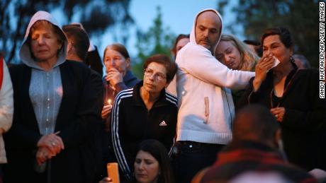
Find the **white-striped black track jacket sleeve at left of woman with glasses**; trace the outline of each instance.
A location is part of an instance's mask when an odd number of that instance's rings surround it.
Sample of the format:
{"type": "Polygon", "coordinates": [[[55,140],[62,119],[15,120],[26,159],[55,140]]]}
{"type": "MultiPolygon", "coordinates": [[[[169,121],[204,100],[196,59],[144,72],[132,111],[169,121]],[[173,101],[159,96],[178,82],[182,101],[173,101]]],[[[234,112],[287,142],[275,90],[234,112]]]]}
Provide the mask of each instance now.
{"type": "Polygon", "coordinates": [[[113,150],[116,154],[116,158],[118,160],[118,164],[120,169],[123,171],[123,174],[131,179],[132,172],[130,171],[130,167],[125,158],[125,154],[123,153],[123,148],[121,146],[120,136],[119,136],[119,110],[120,110],[120,102],[123,98],[128,98],[133,96],[133,88],[128,90],[123,90],[116,96],[113,104],[113,110],[111,115],[111,129],[112,129],[112,143],[113,150]]]}

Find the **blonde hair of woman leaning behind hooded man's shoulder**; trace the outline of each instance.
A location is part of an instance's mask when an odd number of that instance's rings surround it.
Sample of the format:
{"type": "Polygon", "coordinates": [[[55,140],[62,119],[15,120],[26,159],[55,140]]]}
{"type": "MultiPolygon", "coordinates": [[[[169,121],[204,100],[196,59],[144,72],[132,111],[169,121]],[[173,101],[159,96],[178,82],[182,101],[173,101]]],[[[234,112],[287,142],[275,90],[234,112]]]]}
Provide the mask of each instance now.
{"type": "Polygon", "coordinates": [[[240,52],[240,65],[237,70],[240,71],[254,71],[254,66],[256,66],[259,61],[259,57],[256,53],[252,52],[252,50],[245,45],[245,43],[241,42],[237,39],[237,37],[233,35],[222,35],[220,37],[220,41],[231,42],[237,50],[240,52]]]}

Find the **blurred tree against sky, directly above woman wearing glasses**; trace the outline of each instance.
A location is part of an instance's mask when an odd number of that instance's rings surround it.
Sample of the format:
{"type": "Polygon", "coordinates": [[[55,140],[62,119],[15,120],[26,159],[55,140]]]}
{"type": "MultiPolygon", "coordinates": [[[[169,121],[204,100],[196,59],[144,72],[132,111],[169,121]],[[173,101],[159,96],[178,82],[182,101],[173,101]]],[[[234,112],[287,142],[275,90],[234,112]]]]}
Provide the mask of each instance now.
{"type": "Polygon", "coordinates": [[[137,78],[142,78],[142,65],[148,57],[153,54],[166,54],[171,57],[170,49],[174,42],[174,33],[169,27],[164,28],[162,23],[161,8],[157,6],[157,16],[154,18],[153,25],[145,32],[137,30],[137,58],[133,64],[133,73],[137,78]]]}

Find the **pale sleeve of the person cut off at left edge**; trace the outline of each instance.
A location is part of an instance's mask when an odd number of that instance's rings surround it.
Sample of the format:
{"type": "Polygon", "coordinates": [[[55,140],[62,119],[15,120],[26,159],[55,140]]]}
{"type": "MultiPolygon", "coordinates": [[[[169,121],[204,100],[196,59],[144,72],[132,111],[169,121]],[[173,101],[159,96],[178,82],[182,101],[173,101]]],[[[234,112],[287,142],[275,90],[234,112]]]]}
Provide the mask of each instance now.
{"type": "Polygon", "coordinates": [[[8,131],[13,121],[13,86],[6,63],[4,63],[4,78],[0,90],[0,128],[8,131]]]}

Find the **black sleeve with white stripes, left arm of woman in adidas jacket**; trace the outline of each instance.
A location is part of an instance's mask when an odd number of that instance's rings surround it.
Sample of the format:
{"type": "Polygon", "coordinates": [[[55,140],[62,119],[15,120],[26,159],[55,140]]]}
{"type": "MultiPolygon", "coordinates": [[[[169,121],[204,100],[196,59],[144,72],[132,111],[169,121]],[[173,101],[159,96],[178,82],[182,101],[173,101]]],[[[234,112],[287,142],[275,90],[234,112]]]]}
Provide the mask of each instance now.
{"type": "Polygon", "coordinates": [[[123,150],[123,141],[120,136],[120,131],[122,130],[122,124],[123,124],[123,117],[122,112],[123,110],[121,99],[126,94],[126,91],[118,93],[116,96],[116,99],[114,100],[113,109],[111,113],[111,135],[112,135],[112,144],[113,144],[113,150],[116,154],[116,158],[118,160],[118,164],[120,167],[120,170],[123,171],[123,175],[127,179],[131,179],[131,170],[127,162],[127,158],[125,157],[125,153],[123,150]]]}

